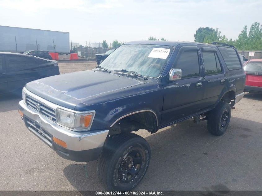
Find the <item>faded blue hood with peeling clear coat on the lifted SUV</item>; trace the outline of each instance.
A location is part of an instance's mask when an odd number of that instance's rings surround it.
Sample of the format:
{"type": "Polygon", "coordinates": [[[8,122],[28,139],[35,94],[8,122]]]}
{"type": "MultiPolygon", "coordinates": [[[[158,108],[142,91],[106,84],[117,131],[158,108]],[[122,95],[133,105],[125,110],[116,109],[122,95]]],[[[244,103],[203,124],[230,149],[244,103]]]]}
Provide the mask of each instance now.
{"type": "Polygon", "coordinates": [[[25,88],[50,102],[73,110],[88,99],[143,83],[145,81],[119,76],[115,72],[89,70],[42,78],[27,83],[25,88]]]}

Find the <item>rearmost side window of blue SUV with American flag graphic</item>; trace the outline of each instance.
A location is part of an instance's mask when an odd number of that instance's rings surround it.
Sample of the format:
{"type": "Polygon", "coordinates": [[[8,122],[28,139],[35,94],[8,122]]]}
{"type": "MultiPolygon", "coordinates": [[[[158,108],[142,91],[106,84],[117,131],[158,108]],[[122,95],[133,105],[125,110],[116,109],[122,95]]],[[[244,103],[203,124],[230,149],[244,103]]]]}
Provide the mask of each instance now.
{"type": "Polygon", "coordinates": [[[233,48],[217,46],[229,70],[240,69],[241,63],[238,54],[233,48]]]}

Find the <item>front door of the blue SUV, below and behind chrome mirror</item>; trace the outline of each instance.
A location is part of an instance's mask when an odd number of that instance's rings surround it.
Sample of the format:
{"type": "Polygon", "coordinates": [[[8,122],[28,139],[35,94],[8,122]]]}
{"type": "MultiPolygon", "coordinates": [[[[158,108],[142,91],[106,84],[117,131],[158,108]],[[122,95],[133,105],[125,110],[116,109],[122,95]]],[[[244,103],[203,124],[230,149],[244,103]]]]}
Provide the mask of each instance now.
{"type": "Polygon", "coordinates": [[[162,79],[164,103],[161,125],[171,124],[198,113],[202,109],[204,89],[201,77],[201,61],[198,46],[178,46],[172,68],[182,70],[177,81],[162,79]]]}

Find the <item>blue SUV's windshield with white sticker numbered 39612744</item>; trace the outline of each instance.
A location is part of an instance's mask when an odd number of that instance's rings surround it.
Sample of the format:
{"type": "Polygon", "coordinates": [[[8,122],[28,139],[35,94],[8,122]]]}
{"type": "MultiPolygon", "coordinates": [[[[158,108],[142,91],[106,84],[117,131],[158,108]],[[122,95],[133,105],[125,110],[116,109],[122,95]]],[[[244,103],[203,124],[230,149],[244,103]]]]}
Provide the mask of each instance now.
{"type": "Polygon", "coordinates": [[[126,69],[156,78],[163,71],[173,49],[173,46],[125,44],[104,59],[100,65],[111,71],[126,69]]]}

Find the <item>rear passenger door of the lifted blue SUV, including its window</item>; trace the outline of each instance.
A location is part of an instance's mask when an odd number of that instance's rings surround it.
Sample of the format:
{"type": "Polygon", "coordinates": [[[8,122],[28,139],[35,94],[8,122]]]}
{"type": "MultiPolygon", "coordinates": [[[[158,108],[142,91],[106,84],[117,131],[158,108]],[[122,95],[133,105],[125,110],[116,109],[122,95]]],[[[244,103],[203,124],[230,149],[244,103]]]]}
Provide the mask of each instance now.
{"type": "Polygon", "coordinates": [[[203,104],[205,108],[213,107],[225,86],[224,70],[215,47],[201,47],[204,65],[205,88],[203,104]]]}

